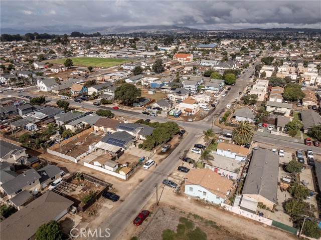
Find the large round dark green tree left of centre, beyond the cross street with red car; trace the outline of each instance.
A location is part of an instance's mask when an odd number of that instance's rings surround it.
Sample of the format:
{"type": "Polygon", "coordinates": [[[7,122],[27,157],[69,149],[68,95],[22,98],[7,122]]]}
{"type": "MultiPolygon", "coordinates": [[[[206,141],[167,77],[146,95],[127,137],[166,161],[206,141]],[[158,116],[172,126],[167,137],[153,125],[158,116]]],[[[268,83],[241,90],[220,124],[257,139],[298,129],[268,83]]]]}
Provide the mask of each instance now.
{"type": "Polygon", "coordinates": [[[140,89],[136,88],[130,83],[124,83],[117,87],[115,90],[115,99],[121,100],[126,106],[132,105],[132,103],[141,96],[140,89]]]}

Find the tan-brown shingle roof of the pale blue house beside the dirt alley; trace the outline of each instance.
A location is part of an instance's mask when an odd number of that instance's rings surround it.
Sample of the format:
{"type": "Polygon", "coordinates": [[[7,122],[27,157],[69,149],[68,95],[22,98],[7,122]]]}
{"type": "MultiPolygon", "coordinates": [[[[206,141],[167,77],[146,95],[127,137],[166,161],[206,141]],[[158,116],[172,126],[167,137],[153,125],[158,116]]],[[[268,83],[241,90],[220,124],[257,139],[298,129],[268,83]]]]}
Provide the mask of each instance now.
{"type": "Polygon", "coordinates": [[[225,198],[228,190],[232,188],[233,181],[222,177],[209,168],[191,169],[185,176],[185,184],[200,185],[210,192],[225,198]]]}

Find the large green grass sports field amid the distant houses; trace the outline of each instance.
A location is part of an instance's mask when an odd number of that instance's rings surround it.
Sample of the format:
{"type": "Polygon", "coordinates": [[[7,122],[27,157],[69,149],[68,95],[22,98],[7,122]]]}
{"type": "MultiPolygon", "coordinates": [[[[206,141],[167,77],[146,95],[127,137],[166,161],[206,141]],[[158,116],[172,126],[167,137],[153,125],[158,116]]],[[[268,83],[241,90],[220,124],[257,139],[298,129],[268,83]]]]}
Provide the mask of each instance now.
{"type": "MultiPolygon", "coordinates": [[[[60,59],[53,59],[48,60],[46,62],[52,63],[52,64],[64,64],[67,58],[60,58],[60,59]]],[[[119,59],[119,58],[70,58],[74,64],[74,66],[92,66],[93,68],[109,68],[113,67],[115,65],[124,64],[124,63],[130,63],[133,61],[133,59],[119,59]]]]}

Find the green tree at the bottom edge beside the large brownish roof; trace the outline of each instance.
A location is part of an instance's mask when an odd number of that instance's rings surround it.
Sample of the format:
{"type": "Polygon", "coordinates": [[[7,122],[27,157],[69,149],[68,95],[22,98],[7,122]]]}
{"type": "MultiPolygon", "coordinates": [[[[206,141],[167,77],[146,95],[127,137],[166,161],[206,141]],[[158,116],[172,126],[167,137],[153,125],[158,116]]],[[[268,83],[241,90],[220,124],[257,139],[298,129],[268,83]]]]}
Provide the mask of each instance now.
{"type": "Polygon", "coordinates": [[[62,236],[60,224],[55,220],[51,220],[38,228],[35,238],[42,240],[62,240],[62,236]]]}

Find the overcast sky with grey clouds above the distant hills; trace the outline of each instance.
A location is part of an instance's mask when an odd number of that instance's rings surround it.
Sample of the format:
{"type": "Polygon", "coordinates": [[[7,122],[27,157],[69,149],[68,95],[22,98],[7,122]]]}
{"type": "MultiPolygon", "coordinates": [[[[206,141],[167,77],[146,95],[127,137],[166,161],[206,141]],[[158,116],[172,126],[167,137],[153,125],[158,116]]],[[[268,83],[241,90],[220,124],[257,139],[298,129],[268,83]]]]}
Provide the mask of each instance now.
{"type": "Polygon", "coordinates": [[[177,25],[198,29],[321,28],[320,1],[6,1],[1,28],[177,25]]]}

